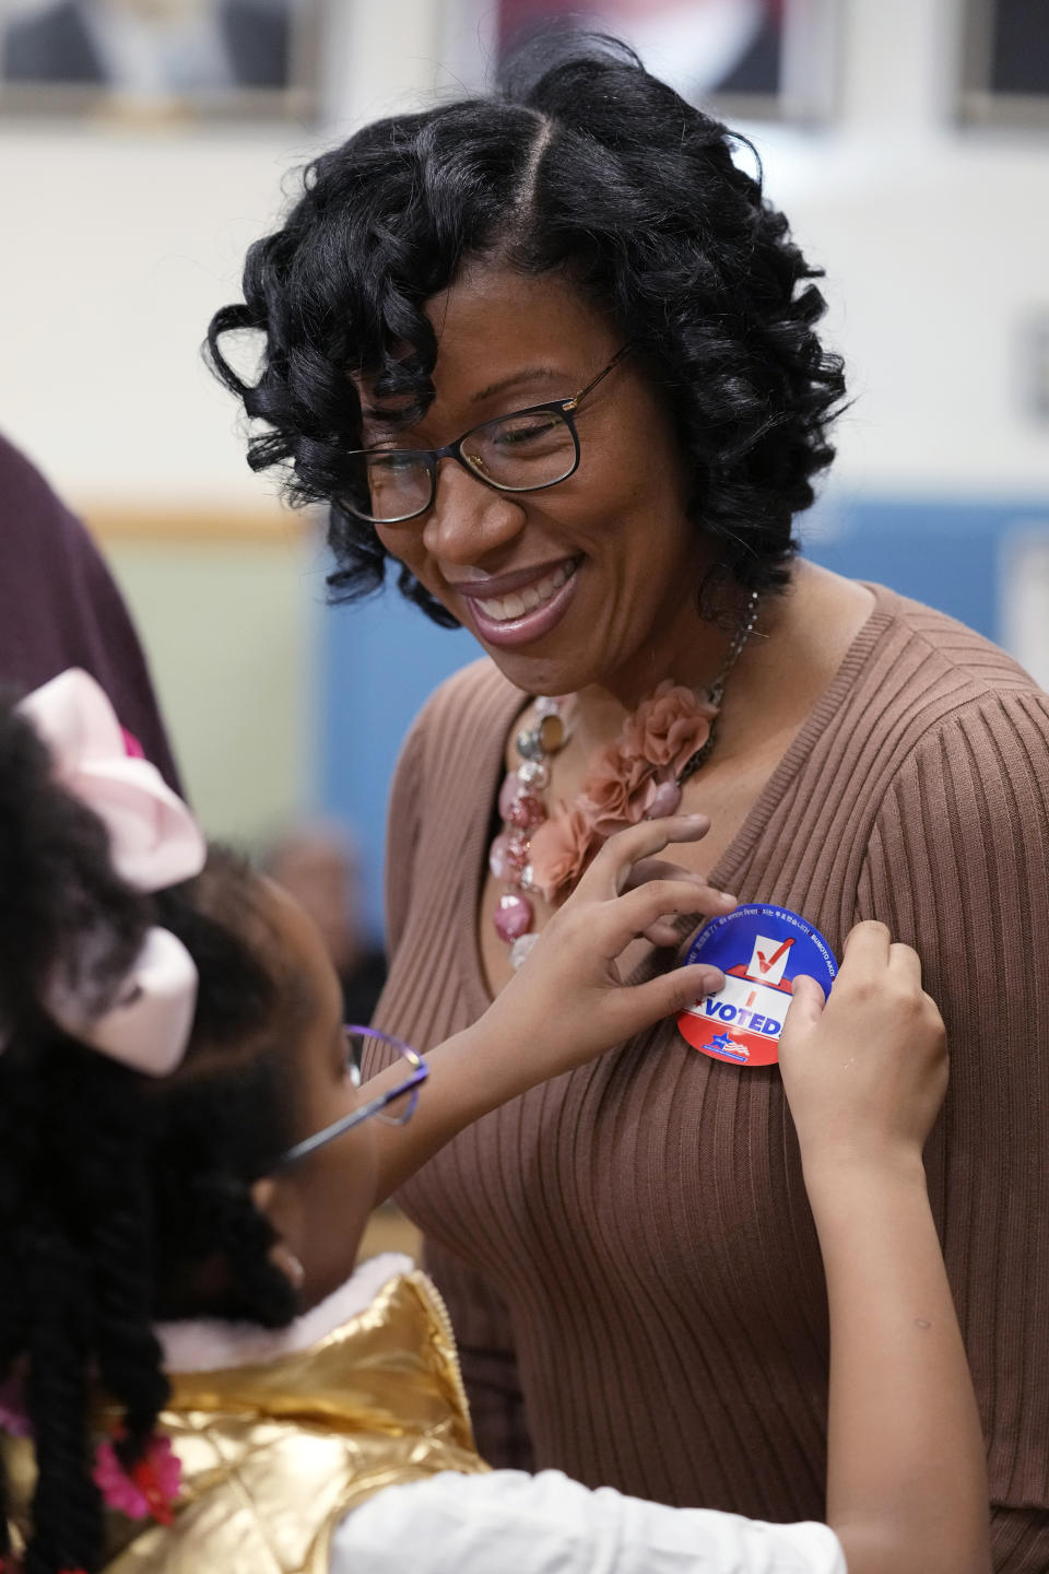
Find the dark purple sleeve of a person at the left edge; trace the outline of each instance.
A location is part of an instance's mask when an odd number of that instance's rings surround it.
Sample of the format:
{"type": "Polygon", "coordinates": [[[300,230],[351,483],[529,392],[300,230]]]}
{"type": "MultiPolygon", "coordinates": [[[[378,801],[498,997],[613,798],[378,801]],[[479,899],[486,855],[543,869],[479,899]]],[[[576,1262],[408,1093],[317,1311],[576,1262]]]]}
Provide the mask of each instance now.
{"type": "Polygon", "coordinates": [[[0,682],[33,689],[66,667],[102,685],[146,759],[181,792],[127,608],[83,524],[0,436],[0,682]]]}

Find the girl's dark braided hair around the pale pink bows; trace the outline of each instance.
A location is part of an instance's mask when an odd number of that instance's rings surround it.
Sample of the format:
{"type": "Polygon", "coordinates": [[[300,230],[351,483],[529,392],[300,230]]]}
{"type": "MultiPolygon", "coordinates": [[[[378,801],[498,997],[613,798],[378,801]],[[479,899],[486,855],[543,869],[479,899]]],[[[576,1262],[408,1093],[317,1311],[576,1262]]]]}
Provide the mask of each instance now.
{"type": "MultiPolygon", "coordinates": [[[[102,822],[0,699],[0,1382],[17,1380],[33,1429],[27,1574],[101,1566],[91,1391],[120,1406],[116,1448],[134,1464],[168,1396],[156,1317],[294,1316],[250,1187],[291,1140],[272,1036],[308,1006],[267,940],[258,881],[231,855],[159,896],[129,889],[102,822]],[[153,1080],[64,1034],[41,1001],[61,977],[104,1009],[157,922],[200,987],[182,1067],[153,1080]]],[[[0,1470],[0,1558],[6,1498],[0,1470]]]]}

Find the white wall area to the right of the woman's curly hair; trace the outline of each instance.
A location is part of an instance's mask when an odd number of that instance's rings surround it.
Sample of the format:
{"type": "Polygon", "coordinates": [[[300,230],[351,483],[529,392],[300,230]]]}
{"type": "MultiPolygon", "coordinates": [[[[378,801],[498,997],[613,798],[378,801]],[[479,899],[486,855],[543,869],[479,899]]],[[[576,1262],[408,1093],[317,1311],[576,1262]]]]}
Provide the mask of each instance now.
{"type": "Polygon", "coordinates": [[[838,485],[1049,494],[1024,327],[1049,313],[1049,131],[959,131],[961,0],[845,5],[830,135],[755,127],[767,187],[827,269],[854,411],[838,485]]]}

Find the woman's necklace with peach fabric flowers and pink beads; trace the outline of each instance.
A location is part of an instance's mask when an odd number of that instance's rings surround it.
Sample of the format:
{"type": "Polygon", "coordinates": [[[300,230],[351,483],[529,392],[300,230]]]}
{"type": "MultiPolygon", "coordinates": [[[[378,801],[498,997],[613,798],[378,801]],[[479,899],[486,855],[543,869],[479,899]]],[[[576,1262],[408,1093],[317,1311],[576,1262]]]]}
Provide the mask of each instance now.
{"type": "Polygon", "coordinates": [[[505,889],[494,924],[519,968],[538,940],[530,892],[552,907],[563,902],[598,848],[624,825],[676,814],[681,789],[706,763],[725,683],[758,620],[760,598],[752,592],[725,653],[722,669],[698,694],[665,678],[626,718],[615,743],[601,749],[571,804],[547,809],[550,756],[565,748],[572,730],[569,697],[539,696],[535,721],[516,737],[521,763],[499,793],[502,829],[488,866],[505,889]]]}

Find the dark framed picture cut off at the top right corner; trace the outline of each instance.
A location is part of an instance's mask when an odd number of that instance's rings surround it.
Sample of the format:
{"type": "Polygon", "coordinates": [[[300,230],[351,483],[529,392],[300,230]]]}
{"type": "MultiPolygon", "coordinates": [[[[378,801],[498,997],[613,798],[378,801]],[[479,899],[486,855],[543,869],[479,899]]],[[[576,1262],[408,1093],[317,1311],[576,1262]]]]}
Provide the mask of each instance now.
{"type": "Polygon", "coordinates": [[[1049,126],[1047,0],[964,0],[961,118],[1049,126]]]}

